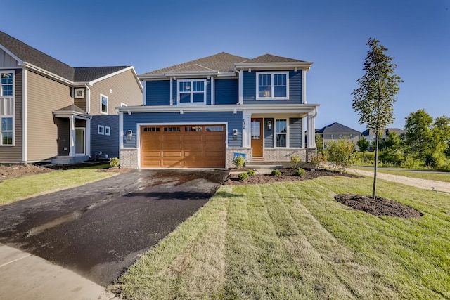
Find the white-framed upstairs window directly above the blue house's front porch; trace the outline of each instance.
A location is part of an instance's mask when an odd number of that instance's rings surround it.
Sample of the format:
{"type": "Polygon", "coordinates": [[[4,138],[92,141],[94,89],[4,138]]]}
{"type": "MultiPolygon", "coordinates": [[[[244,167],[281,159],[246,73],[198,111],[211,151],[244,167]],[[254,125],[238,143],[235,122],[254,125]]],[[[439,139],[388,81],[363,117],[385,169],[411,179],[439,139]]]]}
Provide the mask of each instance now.
{"type": "Polygon", "coordinates": [[[257,72],[256,88],[259,100],[288,100],[289,72],[257,72]]]}

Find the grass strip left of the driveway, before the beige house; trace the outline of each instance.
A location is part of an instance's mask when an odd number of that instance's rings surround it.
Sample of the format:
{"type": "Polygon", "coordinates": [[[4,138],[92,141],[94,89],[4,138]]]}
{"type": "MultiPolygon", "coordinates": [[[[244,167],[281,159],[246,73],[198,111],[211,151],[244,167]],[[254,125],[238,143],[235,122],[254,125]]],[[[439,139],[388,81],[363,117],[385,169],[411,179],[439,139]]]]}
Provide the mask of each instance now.
{"type": "Polygon", "coordinates": [[[36,195],[52,193],[65,188],[73,188],[115,175],[115,173],[96,172],[96,170],[105,167],[109,167],[109,164],[53,171],[0,181],[0,205],[36,195]]]}

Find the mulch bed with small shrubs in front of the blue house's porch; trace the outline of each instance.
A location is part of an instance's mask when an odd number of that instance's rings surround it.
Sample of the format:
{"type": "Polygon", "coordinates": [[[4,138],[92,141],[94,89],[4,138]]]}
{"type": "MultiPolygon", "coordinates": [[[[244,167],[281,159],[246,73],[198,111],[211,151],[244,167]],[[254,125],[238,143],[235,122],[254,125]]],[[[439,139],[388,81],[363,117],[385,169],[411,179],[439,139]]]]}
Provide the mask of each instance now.
{"type": "Polygon", "coordinates": [[[248,184],[264,184],[264,183],[276,183],[285,181],[304,181],[318,178],[321,176],[346,176],[346,177],[359,177],[354,174],[340,174],[338,171],[331,171],[326,169],[306,169],[306,174],[304,176],[296,176],[295,169],[285,168],[279,169],[281,171],[281,176],[271,176],[271,174],[255,174],[255,176],[250,176],[245,181],[240,181],[238,178],[238,173],[234,172],[245,172],[248,169],[229,169],[234,174],[230,174],[224,185],[248,185],[248,184]]]}

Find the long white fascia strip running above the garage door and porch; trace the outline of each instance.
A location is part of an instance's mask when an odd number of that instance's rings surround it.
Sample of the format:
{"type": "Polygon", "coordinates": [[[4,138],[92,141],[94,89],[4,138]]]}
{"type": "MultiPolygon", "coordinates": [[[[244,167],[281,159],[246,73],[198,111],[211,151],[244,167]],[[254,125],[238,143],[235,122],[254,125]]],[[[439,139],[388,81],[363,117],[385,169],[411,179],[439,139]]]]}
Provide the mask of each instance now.
{"type": "Polygon", "coordinates": [[[223,112],[223,111],[251,111],[255,113],[310,113],[315,112],[319,104],[266,104],[266,105],[143,105],[115,107],[117,112],[223,112]]]}

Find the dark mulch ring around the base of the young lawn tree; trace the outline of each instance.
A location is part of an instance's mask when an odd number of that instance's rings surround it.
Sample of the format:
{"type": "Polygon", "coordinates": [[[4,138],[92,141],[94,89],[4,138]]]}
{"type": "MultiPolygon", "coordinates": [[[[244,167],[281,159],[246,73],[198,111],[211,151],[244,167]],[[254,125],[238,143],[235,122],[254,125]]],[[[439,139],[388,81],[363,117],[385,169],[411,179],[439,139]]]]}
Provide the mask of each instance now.
{"type": "Polygon", "coordinates": [[[382,197],[373,199],[371,196],[367,195],[342,194],[336,195],[335,200],[344,205],[347,205],[347,207],[365,211],[366,213],[373,214],[374,216],[420,218],[423,215],[422,213],[420,213],[420,211],[416,211],[416,209],[406,206],[405,204],[401,204],[389,199],[384,199],[382,197]]]}

